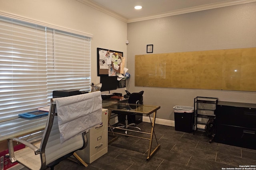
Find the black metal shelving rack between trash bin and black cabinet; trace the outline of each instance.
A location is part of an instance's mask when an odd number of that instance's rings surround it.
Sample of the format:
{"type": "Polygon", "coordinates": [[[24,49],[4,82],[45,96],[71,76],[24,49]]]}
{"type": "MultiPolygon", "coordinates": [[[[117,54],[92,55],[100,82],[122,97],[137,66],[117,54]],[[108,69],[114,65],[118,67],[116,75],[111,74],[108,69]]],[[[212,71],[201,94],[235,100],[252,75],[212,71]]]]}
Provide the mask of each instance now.
{"type": "MultiPolygon", "coordinates": [[[[194,125],[193,134],[205,133],[205,126],[209,119],[215,119],[216,106],[218,104],[218,98],[210,97],[196,97],[194,98],[194,125]]],[[[210,143],[214,138],[213,134],[210,138],[210,143]]]]}

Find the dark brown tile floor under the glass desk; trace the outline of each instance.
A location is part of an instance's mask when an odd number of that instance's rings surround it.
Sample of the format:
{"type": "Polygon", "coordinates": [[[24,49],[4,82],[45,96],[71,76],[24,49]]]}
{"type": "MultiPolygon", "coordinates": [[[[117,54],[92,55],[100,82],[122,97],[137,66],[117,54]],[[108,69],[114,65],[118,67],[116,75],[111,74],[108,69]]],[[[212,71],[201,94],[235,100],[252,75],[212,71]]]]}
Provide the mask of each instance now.
{"type": "MultiPolygon", "coordinates": [[[[150,131],[150,123],[142,122],[138,127],[150,131]]],[[[148,140],[119,135],[108,145],[108,153],[88,167],[67,159],[55,170],[222,170],[256,165],[256,150],[209,143],[209,138],[202,134],[175,131],[165,125],[155,125],[155,133],[161,147],[149,161],[148,140]]]]}

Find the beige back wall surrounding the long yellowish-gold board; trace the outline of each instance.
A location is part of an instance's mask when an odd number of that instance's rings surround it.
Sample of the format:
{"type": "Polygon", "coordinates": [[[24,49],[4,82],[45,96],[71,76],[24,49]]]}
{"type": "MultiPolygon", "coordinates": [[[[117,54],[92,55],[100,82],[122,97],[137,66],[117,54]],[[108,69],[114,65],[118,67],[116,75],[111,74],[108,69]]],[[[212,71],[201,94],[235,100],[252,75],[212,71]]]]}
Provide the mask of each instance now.
{"type": "MultiPolygon", "coordinates": [[[[256,103],[256,92],[152,88],[134,86],[134,56],[256,47],[256,2],[189,14],[128,23],[127,67],[130,92],[144,90],[144,104],[161,106],[157,118],[174,120],[173,107],[193,106],[196,96],[221,101],[256,103]]],[[[193,76],[193,75],[191,75],[193,76]]]]}

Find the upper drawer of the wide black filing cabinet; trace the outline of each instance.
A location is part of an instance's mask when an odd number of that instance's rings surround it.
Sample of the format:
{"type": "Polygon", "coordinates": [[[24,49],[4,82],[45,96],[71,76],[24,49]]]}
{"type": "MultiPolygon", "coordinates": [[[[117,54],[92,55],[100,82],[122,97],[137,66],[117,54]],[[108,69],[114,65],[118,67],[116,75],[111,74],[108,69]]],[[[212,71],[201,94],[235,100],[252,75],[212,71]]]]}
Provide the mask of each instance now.
{"type": "Polygon", "coordinates": [[[217,106],[216,122],[220,124],[256,129],[256,109],[232,106],[217,106]]]}

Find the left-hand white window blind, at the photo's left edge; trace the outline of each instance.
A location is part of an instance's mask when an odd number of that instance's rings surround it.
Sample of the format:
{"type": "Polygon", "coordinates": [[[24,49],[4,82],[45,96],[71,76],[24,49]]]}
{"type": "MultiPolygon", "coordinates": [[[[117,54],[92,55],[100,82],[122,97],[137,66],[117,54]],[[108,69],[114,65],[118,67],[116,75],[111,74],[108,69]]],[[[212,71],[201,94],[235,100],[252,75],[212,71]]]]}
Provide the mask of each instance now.
{"type": "Polygon", "coordinates": [[[0,119],[47,102],[45,27],[0,18],[0,119]]]}

